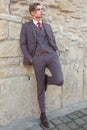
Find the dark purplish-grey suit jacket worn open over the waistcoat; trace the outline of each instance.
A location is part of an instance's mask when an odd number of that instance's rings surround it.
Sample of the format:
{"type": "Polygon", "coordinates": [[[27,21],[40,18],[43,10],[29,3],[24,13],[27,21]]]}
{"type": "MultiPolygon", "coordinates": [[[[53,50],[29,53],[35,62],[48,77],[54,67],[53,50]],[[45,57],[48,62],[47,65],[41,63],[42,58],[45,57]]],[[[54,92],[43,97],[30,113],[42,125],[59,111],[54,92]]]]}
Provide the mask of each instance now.
{"type": "MultiPolygon", "coordinates": [[[[58,50],[51,26],[44,22],[42,25],[47,33],[50,46],[55,51],[58,50]]],[[[20,46],[24,54],[23,63],[25,65],[29,65],[29,61],[34,56],[37,47],[37,36],[33,26],[33,21],[26,22],[22,25],[20,33],[20,46]]]]}

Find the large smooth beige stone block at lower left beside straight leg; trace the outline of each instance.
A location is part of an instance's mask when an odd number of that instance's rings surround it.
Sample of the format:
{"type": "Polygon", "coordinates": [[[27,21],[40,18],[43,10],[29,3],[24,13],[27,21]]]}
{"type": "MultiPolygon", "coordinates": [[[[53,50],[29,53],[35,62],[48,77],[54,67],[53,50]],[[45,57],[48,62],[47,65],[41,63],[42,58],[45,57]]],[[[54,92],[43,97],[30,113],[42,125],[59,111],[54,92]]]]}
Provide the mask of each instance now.
{"type": "Polygon", "coordinates": [[[37,115],[36,92],[33,76],[0,79],[0,124],[37,115]]]}

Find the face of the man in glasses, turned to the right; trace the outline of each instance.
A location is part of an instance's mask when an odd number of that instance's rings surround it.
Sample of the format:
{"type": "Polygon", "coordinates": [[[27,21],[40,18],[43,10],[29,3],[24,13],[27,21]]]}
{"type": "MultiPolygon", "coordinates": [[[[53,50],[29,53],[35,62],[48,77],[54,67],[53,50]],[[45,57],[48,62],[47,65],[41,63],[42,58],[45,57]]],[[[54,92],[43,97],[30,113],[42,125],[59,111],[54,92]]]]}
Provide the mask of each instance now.
{"type": "Polygon", "coordinates": [[[43,16],[43,8],[42,8],[42,6],[41,6],[41,5],[38,5],[38,6],[36,7],[36,9],[35,9],[33,12],[31,12],[31,14],[32,14],[32,16],[33,16],[34,18],[36,18],[36,19],[42,18],[42,16],[43,16]]]}

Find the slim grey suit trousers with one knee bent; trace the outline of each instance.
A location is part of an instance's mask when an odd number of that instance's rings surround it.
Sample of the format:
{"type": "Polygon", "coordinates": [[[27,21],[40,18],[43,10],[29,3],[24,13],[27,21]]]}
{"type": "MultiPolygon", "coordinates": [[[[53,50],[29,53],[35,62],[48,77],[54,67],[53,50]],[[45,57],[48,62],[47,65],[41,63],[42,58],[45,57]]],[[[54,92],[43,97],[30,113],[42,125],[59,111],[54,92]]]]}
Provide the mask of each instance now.
{"type": "Polygon", "coordinates": [[[47,76],[48,85],[62,86],[64,83],[63,73],[57,53],[41,53],[33,57],[33,68],[37,81],[37,96],[42,113],[45,112],[45,69],[48,68],[51,76],[47,76]]]}

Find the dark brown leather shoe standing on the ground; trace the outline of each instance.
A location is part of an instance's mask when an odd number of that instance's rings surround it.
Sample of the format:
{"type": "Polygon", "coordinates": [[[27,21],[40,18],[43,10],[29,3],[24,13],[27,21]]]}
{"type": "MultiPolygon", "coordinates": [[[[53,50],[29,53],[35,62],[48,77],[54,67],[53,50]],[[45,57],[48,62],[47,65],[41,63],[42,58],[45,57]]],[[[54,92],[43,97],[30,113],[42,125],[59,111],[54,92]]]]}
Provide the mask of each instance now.
{"type": "Polygon", "coordinates": [[[46,115],[42,115],[40,116],[40,120],[41,120],[41,126],[44,130],[49,130],[50,129],[50,126],[49,126],[49,122],[47,120],[47,117],[46,115]]]}

